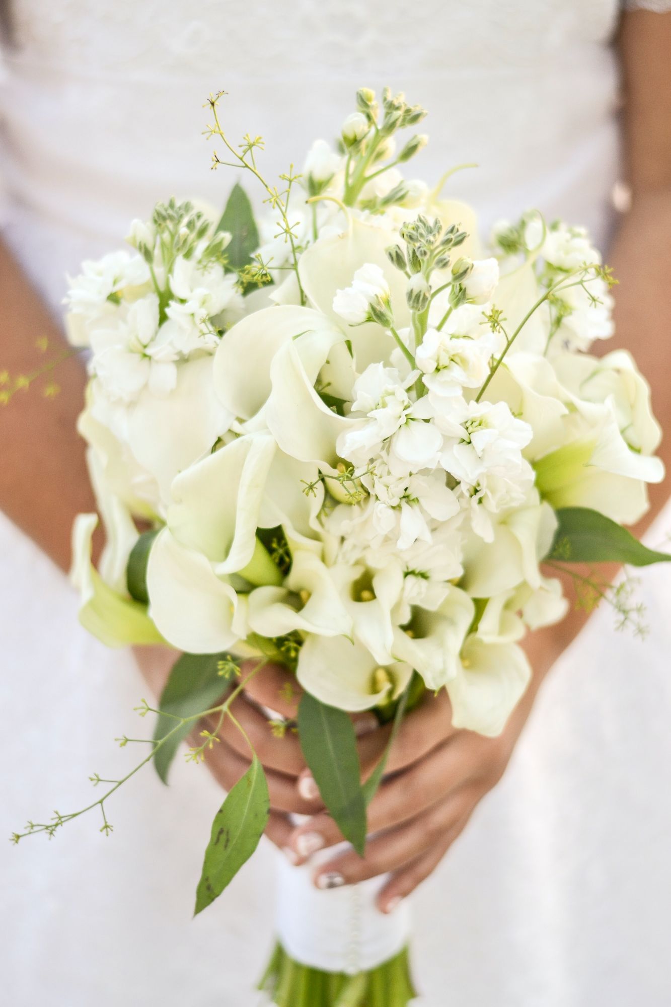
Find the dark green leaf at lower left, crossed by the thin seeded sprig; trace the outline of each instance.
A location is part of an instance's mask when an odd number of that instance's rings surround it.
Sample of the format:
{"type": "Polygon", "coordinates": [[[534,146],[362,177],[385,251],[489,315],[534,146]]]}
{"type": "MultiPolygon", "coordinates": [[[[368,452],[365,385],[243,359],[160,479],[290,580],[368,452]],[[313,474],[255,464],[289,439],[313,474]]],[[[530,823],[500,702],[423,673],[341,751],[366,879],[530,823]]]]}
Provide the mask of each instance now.
{"type": "MultiPolygon", "coordinates": [[[[219,674],[223,654],[182,654],[172,666],[165,688],[161,693],[159,710],[172,716],[159,714],[154,729],[154,740],[160,741],[171,731],[174,717],[191,717],[202,710],[209,710],[226,692],[226,680],[219,674]]],[[[168,769],[180,743],[192,730],[193,722],[182,724],[154,755],[156,772],[167,783],[168,769]]]]}

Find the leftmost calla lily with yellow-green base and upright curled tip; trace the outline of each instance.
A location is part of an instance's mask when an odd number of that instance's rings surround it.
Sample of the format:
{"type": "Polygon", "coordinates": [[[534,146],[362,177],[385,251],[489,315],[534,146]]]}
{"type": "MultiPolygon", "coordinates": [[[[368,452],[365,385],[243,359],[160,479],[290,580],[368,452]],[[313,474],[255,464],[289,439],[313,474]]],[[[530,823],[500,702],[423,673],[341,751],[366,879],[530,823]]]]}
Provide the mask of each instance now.
{"type": "Polygon", "coordinates": [[[107,584],[91,562],[98,515],[80,514],[73,526],[70,579],[81,595],[79,618],[85,629],[106,646],[164,642],[144,605],[107,584]]]}

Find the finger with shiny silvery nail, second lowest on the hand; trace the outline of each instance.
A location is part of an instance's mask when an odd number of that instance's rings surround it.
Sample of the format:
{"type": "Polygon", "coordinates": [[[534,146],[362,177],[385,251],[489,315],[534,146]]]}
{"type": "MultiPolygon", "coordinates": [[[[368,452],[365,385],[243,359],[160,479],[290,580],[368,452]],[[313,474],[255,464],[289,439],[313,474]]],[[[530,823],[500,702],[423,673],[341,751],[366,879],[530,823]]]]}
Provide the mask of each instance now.
{"type": "Polygon", "coordinates": [[[440,843],[469,809],[471,801],[466,789],[450,795],[411,822],[369,840],[364,857],[349,850],[321,864],[314,874],[314,884],[317,888],[358,884],[398,870],[440,843]]]}

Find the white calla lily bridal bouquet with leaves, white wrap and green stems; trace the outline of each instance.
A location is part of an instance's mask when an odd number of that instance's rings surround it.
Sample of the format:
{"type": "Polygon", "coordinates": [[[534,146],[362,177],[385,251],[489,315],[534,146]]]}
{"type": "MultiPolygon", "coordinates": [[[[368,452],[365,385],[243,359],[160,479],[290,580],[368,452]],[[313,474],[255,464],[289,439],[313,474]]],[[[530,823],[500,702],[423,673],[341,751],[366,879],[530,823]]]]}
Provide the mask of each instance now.
{"type": "MultiPolygon", "coordinates": [[[[660,430],[632,356],[589,353],[613,334],[615,281],[588,235],[529,211],[483,244],[474,211],[441,197],[446,179],[401,173],[427,137],[397,134],[423,109],[362,89],[337,147],[317,140],[275,187],[263,141],[234,145],[220,103],[215,166],[262,189],[266,220],[239,184],[223,215],[158,203],[133,222],[132,251],[72,281],[69,334],[91,376],[80,432],[107,541],[95,569],[98,517],[77,519],[80,617],[109,645],[182,653],[144,760],[164,779],[179,741],[205,714],[233,718],[265,662],[294,672],[297,722],[269,711],[269,730],[298,731],[363,853],[385,757],[362,783],[350,715],[393,721],[391,744],[407,710],[445,689],[454,727],[500,733],[531,675],[521,640],[567,609],[552,569],[580,564],[574,576],[608,595],[583,564],[668,559],[624,528],[663,476],[660,430]]],[[[623,593],[611,597],[626,621],[623,593]]],[[[188,757],[216,732],[202,737],[188,757]]],[[[196,912],[264,831],[250,760],[215,817],[196,912]]],[[[412,999],[408,920],[374,910],[379,880],[316,892],[306,869],[280,875],[273,1002],[412,999]]]]}

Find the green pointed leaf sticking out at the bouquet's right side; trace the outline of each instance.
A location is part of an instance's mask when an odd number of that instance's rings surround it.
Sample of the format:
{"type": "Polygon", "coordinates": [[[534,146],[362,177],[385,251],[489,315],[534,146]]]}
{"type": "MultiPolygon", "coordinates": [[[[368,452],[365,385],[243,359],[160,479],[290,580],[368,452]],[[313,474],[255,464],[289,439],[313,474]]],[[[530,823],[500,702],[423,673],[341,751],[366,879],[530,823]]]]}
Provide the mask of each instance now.
{"type": "Polygon", "coordinates": [[[650,566],[668,563],[671,555],[648,549],[631,532],[598,511],[583,507],[561,508],[556,512],[557,528],[548,559],[565,563],[629,563],[650,566]]]}

